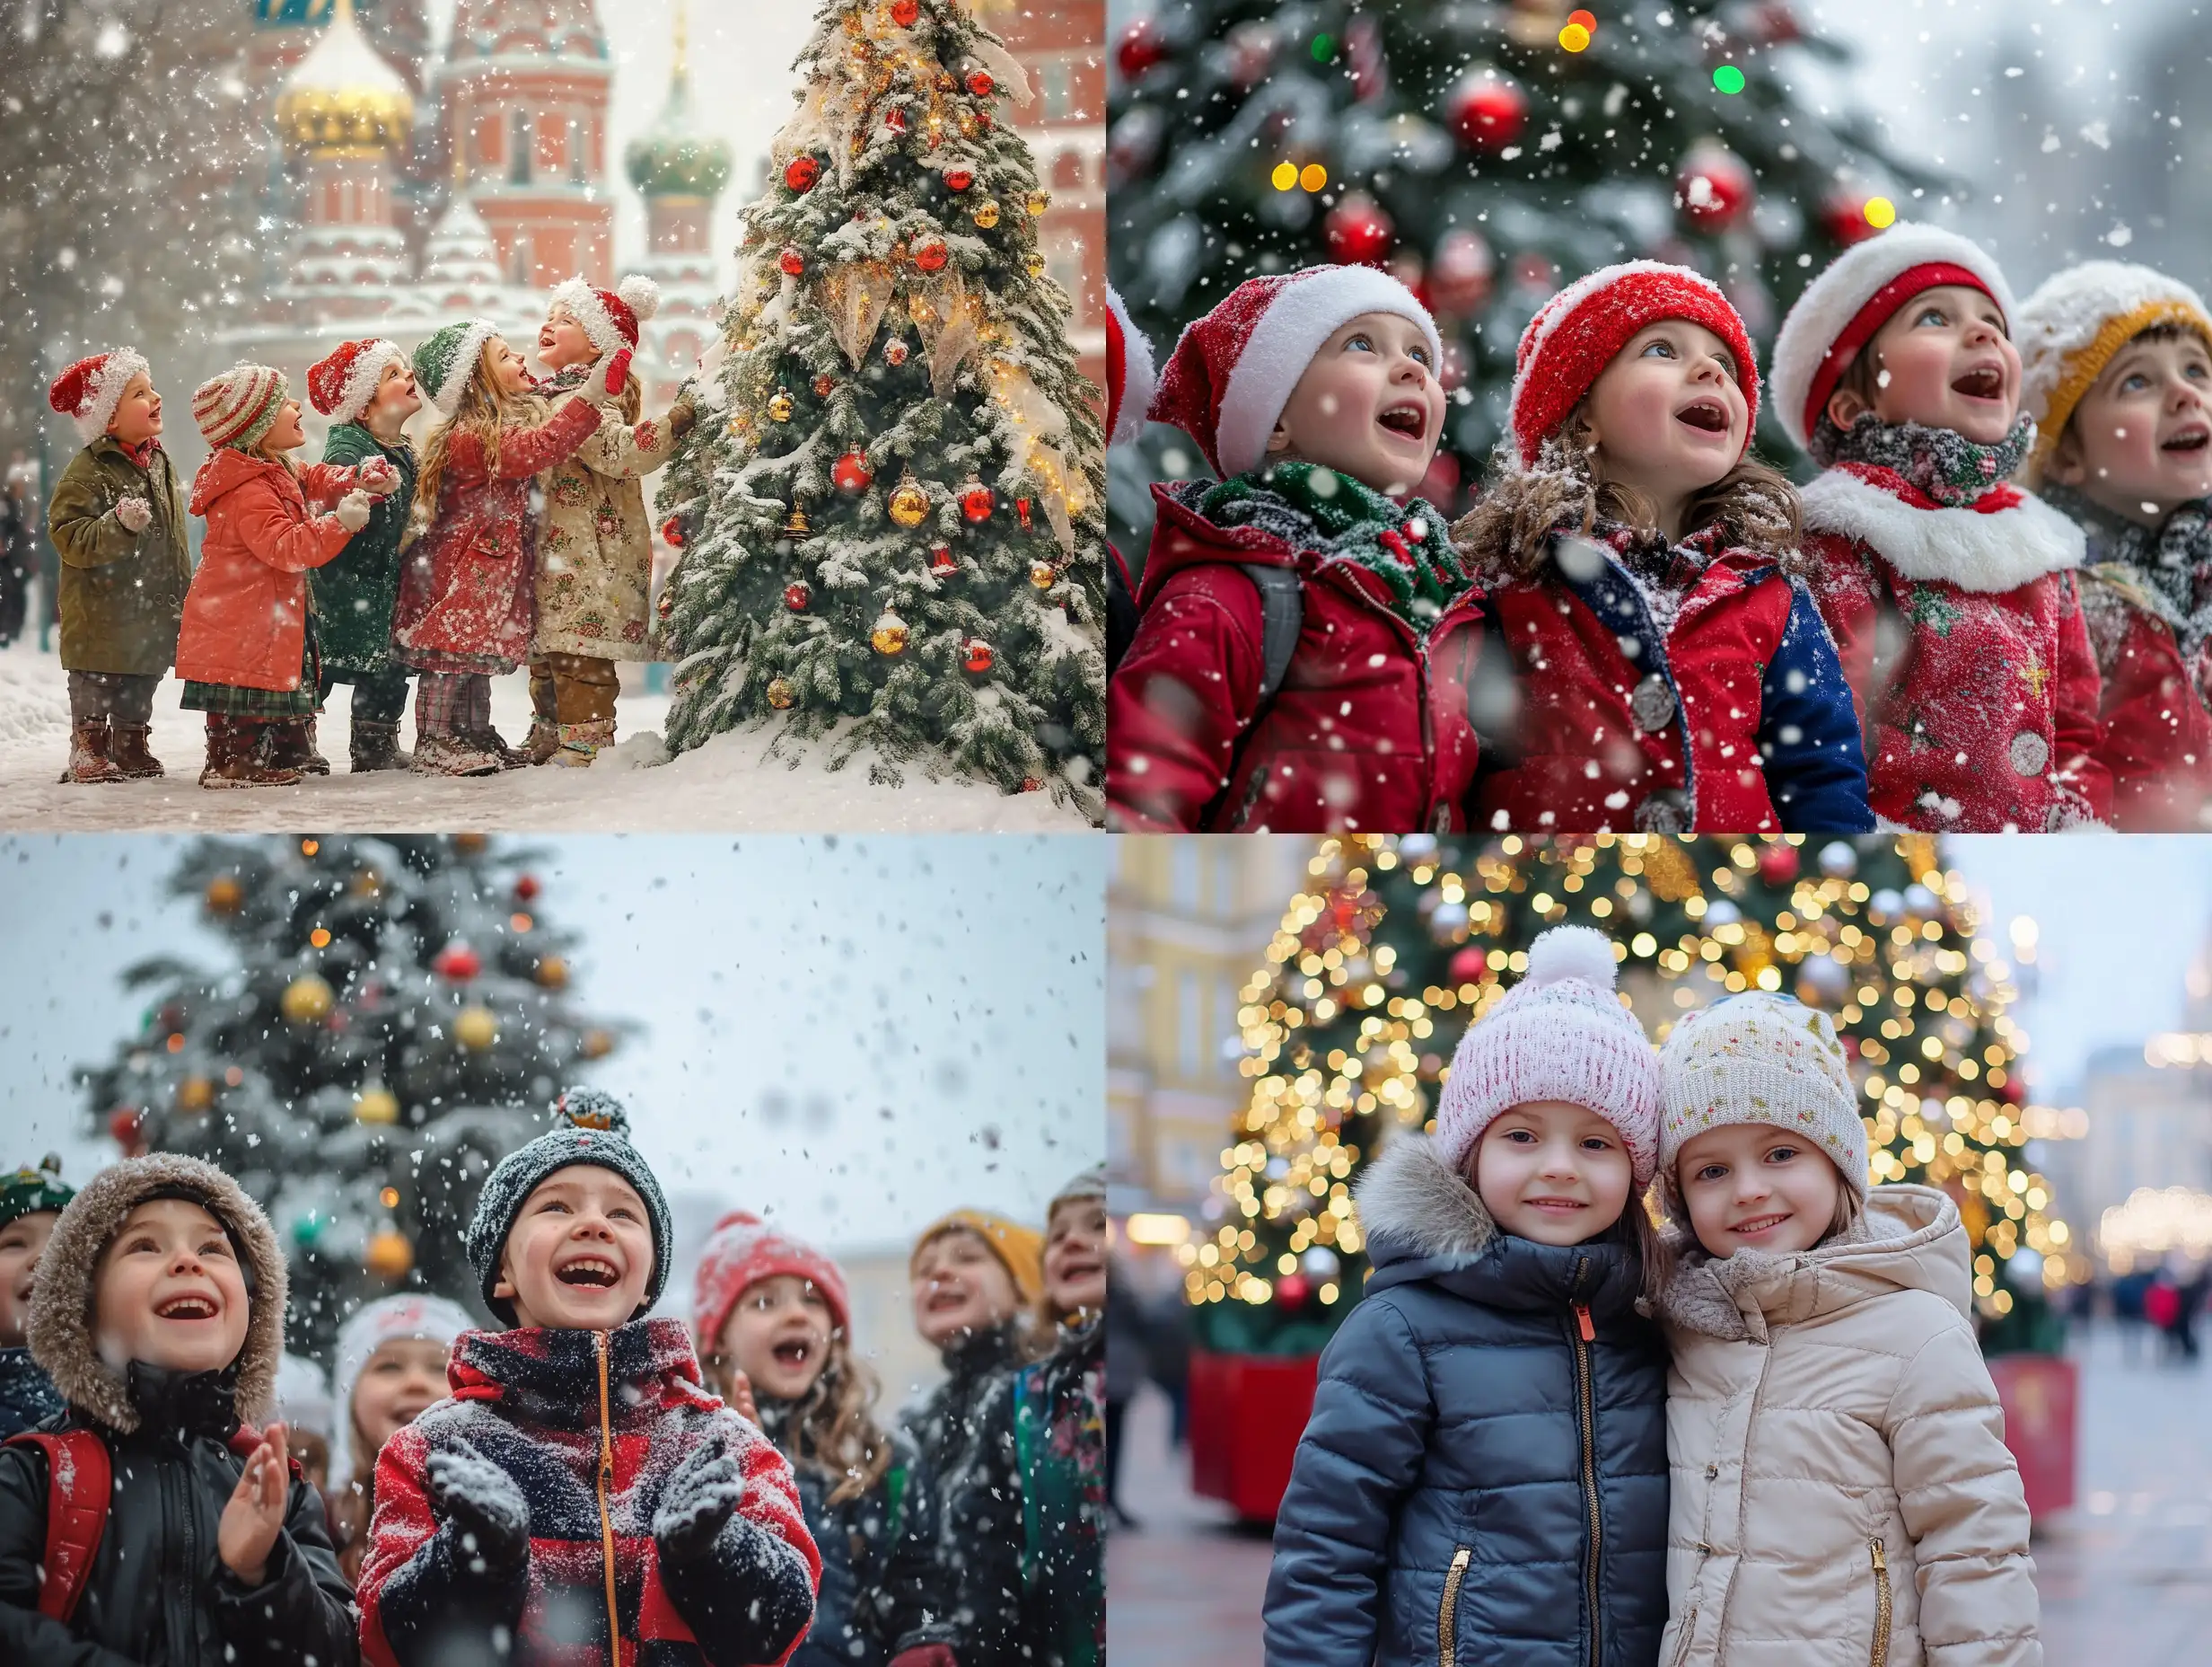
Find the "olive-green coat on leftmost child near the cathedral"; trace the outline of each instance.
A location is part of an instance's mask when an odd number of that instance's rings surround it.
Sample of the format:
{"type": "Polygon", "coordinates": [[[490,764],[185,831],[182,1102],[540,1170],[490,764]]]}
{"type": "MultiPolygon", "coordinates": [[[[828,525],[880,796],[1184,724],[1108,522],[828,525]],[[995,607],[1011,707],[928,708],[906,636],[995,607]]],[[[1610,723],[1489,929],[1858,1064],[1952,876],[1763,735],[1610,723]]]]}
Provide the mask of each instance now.
{"type": "Polygon", "coordinates": [[[177,662],[177,622],[192,582],[184,494],[168,452],[142,469],[111,434],[77,452],[46,503],[46,538],[62,558],[62,669],[159,677],[177,662]],[[146,531],[115,518],[139,496],[146,531]]]}

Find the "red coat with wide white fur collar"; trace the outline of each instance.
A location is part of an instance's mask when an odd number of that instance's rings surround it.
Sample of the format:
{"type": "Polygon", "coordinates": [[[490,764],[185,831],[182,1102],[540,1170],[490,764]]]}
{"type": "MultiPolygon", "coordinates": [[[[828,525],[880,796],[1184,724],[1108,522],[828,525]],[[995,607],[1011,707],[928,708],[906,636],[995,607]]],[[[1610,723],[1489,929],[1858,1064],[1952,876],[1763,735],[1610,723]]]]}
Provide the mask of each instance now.
{"type": "Polygon", "coordinates": [[[2097,660],[2073,573],[2081,529],[2011,485],[1944,509],[1860,463],[1803,503],[1874,815],[1929,832],[2106,821],[2097,660]]]}

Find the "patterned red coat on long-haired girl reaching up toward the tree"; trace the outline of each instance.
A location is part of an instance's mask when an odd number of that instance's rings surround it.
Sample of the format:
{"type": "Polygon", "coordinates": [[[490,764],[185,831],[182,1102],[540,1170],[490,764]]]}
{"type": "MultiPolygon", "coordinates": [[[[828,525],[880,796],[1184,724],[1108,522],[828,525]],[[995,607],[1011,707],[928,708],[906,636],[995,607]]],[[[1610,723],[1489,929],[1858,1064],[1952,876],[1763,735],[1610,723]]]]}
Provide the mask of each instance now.
{"type": "Polygon", "coordinates": [[[538,611],[531,476],[599,427],[599,407],[568,398],[551,421],[500,436],[487,467],[473,434],[456,434],[438,483],[438,514],[400,558],[392,613],[398,658],[418,671],[498,671],[529,660],[538,611]]]}

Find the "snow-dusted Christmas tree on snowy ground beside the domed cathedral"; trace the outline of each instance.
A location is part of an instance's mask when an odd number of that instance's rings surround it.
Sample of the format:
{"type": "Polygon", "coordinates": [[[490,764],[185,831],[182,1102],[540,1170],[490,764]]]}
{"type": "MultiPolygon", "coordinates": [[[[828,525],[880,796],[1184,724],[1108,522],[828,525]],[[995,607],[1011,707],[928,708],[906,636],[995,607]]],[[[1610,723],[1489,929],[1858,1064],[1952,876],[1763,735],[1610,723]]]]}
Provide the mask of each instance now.
{"type": "Polygon", "coordinates": [[[661,489],[668,742],[774,719],[1099,815],[1102,441],[998,115],[1026,73],[960,0],[830,0],[799,69],[661,489]]]}

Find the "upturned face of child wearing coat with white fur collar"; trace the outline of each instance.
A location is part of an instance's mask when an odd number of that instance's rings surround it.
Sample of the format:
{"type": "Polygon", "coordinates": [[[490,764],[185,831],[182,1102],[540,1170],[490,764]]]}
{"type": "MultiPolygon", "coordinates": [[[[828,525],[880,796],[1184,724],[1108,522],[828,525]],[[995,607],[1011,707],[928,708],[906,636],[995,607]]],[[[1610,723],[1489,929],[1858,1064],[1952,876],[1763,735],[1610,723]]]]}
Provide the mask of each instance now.
{"type": "Polygon", "coordinates": [[[1997,445],[2020,416],[2020,350],[2004,332],[2004,310],[1964,283],[1922,290],[1860,348],[1874,354],[1874,401],[1838,387],[1829,421],[1849,432],[1860,412],[1885,423],[1922,423],[1997,445]]]}

